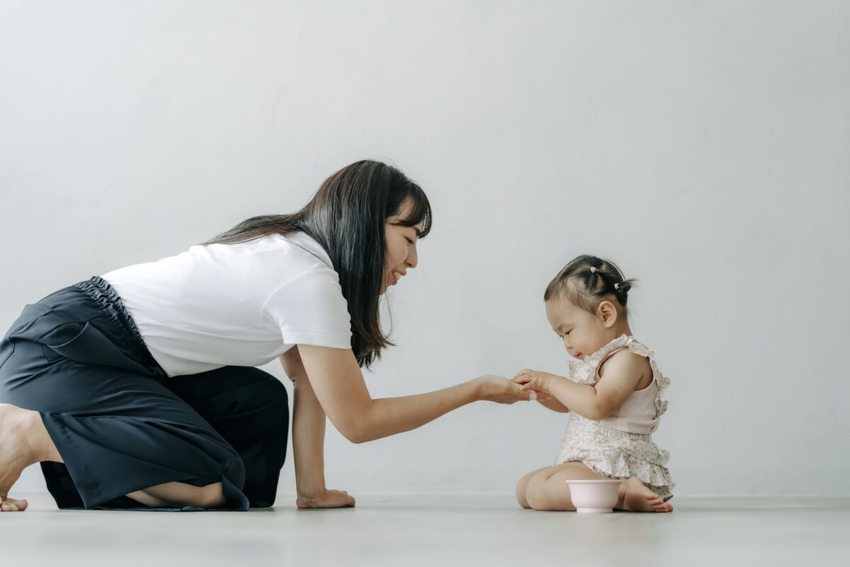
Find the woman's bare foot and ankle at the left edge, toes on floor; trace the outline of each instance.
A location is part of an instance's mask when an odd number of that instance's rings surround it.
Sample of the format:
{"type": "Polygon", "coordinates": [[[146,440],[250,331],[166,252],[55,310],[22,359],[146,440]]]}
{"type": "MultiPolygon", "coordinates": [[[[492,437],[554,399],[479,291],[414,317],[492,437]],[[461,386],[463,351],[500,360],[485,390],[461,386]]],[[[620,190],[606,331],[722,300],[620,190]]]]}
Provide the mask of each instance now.
{"type": "Polygon", "coordinates": [[[20,473],[37,462],[27,440],[27,432],[31,431],[32,413],[16,405],[0,404],[0,512],[26,510],[26,500],[9,498],[8,491],[20,473]]]}

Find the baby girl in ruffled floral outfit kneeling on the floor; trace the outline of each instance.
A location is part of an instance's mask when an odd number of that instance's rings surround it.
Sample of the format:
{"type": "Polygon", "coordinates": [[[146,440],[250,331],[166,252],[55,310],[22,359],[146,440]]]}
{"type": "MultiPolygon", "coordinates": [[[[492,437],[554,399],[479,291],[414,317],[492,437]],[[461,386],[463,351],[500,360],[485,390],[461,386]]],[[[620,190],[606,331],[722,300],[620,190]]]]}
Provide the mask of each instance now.
{"type": "Polygon", "coordinates": [[[569,411],[570,424],[552,467],[526,474],[517,501],[535,510],[575,510],[567,479],[622,480],[616,508],[671,512],[670,454],[652,442],[670,380],[655,351],[629,328],[629,289],[615,264],[579,256],[549,283],[546,315],[570,360],[570,377],[522,370],[514,382],[531,389],[553,411],[569,411]]]}

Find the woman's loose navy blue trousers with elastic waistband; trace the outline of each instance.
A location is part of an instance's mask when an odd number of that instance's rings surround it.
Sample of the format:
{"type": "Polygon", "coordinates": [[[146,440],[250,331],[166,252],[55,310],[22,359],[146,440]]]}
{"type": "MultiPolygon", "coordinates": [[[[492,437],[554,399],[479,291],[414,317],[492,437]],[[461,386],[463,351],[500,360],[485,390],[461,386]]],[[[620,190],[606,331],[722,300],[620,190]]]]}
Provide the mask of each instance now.
{"type": "Polygon", "coordinates": [[[60,508],[150,509],[124,495],[172,481],[221,482],[225,509],[275,502],[289,427],[280,380],[244,366],[167,377],[97,276],[14,321],[0,402],[41,414],[65,461],[42,462],[60,508]]]}

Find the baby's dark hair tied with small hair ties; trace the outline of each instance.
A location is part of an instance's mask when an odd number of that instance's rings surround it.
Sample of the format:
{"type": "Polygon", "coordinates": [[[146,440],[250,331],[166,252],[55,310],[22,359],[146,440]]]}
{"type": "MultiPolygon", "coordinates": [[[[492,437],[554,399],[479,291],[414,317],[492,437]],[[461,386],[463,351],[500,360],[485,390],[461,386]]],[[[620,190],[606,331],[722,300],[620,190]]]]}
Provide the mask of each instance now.
{"type": "Polygon", "coordinates": [[[564,298],[576,307],[596,314],[599,303],[613,300],[627,316],[629,290],[636,281],[633,278],[626,280],[613,262],[582,254],[565,265],[549,282],[543,301],[553,297],[564,298]]]}

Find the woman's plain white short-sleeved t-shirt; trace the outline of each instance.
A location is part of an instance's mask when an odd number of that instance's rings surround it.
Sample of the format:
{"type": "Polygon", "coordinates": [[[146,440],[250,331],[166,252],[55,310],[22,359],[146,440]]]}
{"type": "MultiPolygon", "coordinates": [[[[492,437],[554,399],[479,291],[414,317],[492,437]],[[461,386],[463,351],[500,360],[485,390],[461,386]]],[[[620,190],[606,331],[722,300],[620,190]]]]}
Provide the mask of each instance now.
{"type": "Polygon", "coordinates": [[[102,277],[169,377],[260,366],[296,344],[351,348],[339,276],[303,233],[193,246],[102,277]]]}

